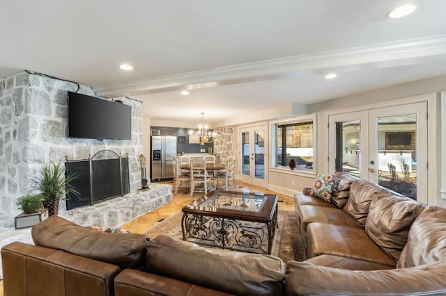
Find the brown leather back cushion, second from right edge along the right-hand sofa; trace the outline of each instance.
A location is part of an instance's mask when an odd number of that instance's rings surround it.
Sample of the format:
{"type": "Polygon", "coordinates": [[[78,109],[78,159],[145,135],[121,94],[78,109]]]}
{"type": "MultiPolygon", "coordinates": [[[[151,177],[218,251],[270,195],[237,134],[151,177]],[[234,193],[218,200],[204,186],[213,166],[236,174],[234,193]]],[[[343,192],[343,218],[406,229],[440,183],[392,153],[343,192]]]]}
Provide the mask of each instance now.
{"type": "Polygon", "coordinates": [[[407,243],[410,225],[424,210],[424,204],[408,197],[374,197],[370,204],[365,231],[395,261],[407,243]]]}

